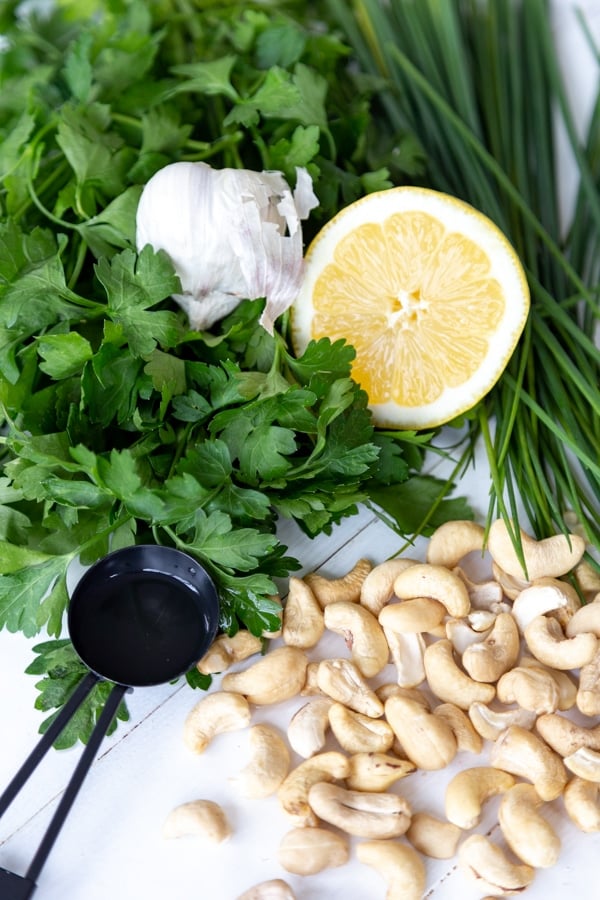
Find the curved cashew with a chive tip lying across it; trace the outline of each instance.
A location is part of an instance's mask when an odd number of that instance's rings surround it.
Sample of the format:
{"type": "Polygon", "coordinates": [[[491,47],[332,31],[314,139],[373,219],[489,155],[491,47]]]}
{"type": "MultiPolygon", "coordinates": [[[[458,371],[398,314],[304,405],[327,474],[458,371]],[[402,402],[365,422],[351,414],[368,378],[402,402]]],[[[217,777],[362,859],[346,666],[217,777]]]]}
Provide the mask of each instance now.
{"type": "Polygon", "coordinates": [[[536,541],[520,529],[525,571],[519,561],[504,519],[496,519],[488,533],[488,550],[493,560],[516,578],[548,576],[560,578],[570,572],[585,553],[585,541],[578,534],[554,534],[536,541]]]}

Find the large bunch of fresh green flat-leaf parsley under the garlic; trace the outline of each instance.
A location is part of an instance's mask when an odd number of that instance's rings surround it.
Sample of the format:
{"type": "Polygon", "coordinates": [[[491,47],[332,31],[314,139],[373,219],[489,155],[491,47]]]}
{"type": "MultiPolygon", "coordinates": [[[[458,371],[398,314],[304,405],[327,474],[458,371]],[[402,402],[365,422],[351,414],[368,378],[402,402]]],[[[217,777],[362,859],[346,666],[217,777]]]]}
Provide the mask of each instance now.
{"type": "MultiPolygon", "coordinates": [[[[298,567],[280,517],[316,536],[366,501],[408,534],[468,515],[416,477],[428,436],[375,432],[351,347],[296,359],[285,319],[258,327],[261,301],[190,331],[169,260],[135,252],[142,186],[168,162],[306,166],[313,228],[418,168],[410,135],[393,154],[371,139],[375,79],[350,83],[348,47],[309,17],[77,0],[0,18],[0,627],[55,639],[29,668],[42,709],[81,670],[61,638],[76,560],[177,546],[215,580],[221,628],[260,634],[277,625],[276,579],[298,567]]],[[[63,744],[86,739],[105,687],[63,744]]]]}

